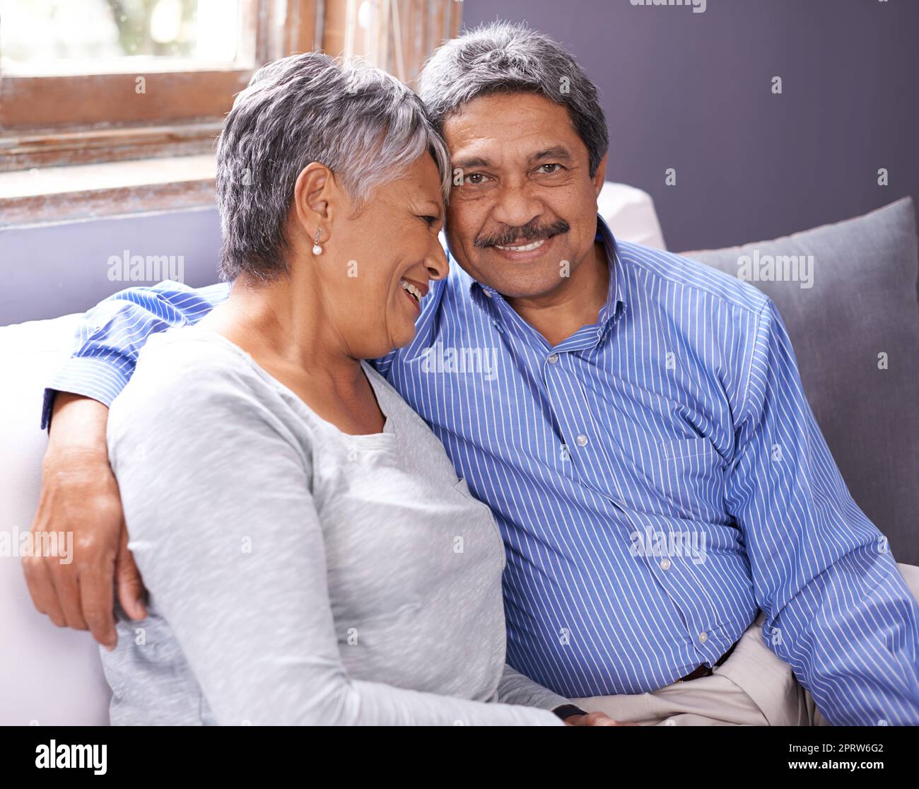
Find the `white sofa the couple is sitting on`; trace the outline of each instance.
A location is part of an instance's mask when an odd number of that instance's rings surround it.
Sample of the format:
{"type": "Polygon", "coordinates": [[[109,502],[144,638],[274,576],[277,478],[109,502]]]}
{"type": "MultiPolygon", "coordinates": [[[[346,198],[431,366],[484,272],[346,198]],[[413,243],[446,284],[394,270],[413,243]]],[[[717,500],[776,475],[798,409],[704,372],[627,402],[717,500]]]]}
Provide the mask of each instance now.
{"type": "MultiPolygon", "coordinates": [[[[651,197],[607,183],[600,212],[618,237],[664,248],[651,197]]],[[[86,305],[91,306],[90,304],[86,305]]],[[[71,352],[78,315],[0,328],[0,532],[17,545],[38,506],[45,384],[71,352]]],[[[92,637],[36,612],[17,556],[0,555],[0,726],[108,724],[108,685],[92,637]]]]}

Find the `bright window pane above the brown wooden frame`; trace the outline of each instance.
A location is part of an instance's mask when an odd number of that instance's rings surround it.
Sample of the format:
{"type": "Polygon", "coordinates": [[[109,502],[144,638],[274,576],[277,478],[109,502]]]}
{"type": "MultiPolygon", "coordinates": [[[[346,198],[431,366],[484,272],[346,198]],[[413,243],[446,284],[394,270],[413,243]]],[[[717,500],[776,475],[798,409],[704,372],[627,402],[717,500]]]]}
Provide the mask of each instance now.
{"type": "Polygon", "coordinates": [[[0,69],[100,74],[238,64],[245,0],[0,0],[0,69]]]}

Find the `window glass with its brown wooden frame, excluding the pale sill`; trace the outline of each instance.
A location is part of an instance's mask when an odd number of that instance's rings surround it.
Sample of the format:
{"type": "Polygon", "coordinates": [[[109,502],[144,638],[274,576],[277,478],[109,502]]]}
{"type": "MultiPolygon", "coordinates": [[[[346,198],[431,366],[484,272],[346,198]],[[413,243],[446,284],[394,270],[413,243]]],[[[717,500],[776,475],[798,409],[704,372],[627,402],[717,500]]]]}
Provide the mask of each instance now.
{"type": "MultiPolygon", "coordinates": [[[[281,10],[299,17],[316,5],[290,0],[281,10]]],[[[301,32],[277,9],[266,0],[0,0],[0,168],[208,151],[233,95],[272,59],[269,28],[301,32]]]]}

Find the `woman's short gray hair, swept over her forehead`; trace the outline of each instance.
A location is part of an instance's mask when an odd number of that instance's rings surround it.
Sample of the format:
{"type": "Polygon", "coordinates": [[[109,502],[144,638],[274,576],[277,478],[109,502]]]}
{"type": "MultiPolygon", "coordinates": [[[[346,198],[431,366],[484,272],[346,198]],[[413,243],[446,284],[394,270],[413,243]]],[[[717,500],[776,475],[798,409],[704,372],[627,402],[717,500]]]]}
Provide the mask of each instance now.
{"type": "Polygon", "coordinates": [[[253,74],[223,123],[217,153],[221,279],[288,272],[285,233],[303,167],[327,166],[356,201],[431,154],[447,199],[447,146],[421,100],[391,74],[319,52],[291,55],[253,74]]]}

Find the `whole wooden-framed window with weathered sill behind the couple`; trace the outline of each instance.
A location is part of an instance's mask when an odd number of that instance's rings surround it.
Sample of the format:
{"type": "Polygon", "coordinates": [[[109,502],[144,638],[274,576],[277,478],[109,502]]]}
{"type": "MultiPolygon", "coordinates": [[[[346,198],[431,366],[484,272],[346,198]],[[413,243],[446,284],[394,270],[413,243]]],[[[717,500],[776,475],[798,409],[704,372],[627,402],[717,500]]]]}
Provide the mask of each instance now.
{"type": "Polygon", "coordinates": [[[457,0],[0,0],[0,225],[212,204],[214,140],[259,65],[321,49],[414,86],[460,11],[457,0]]]}

